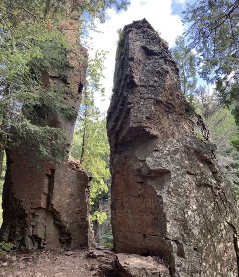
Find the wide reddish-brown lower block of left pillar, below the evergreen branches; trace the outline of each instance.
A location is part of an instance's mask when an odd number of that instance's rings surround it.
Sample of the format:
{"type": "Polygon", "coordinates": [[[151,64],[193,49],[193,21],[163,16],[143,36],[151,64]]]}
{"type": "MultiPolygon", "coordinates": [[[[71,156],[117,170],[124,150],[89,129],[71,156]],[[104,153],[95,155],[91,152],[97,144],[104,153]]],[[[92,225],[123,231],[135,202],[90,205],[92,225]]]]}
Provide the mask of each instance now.
{"type": "Polygon", "coordinates": [[[79,163],[39,170],[18,152],[7,154],[2,239],[27,249],[91,246],[89,178],[79,163]]]}

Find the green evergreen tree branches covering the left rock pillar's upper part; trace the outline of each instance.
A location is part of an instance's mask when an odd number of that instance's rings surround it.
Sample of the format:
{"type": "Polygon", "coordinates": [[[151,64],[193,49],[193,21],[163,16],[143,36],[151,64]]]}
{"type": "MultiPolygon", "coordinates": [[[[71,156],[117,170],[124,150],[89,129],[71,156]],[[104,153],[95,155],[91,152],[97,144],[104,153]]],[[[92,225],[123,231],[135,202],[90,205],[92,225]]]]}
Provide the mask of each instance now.
{"type": "MultiPolygon", "coordinates": [[[[36,113],[44,108],[71,117],[75,112],[62,101],[64,87],[42,82],[44,72],[58,72],[59,78],[71,68],[69,45],[62,24],[81,17],[81,22],[104,21],[106,8],[126,8],[117,0],[1,0],[0,48],[0,171],[6,139],[17,145],[31,143],[37,159],[57,162],[65,155],[66,134],[61,128],[44,124],[36,113]],[[40,122],[39,122],[40,121],[40,122]]],[[[83,25],[83,23],[82,23],[83,25]]],[[[21,147],[24,150],[26,147],[21,147]]]]}

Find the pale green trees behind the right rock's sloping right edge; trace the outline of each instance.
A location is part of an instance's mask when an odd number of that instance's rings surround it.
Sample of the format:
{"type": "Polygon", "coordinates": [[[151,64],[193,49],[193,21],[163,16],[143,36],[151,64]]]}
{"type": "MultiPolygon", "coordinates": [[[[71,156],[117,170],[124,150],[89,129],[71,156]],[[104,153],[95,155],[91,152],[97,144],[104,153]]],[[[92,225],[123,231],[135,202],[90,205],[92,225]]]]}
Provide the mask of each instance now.
{"type": "Polygon", "coordinates": [[[221,107],[215,95],[200,86],[196,91],[197,112],[203,117],[213,143],[216,144],[218,163],[239,196],[239,154],[231,140],[236,136],[236,124],[227,107],[221,107]]]}

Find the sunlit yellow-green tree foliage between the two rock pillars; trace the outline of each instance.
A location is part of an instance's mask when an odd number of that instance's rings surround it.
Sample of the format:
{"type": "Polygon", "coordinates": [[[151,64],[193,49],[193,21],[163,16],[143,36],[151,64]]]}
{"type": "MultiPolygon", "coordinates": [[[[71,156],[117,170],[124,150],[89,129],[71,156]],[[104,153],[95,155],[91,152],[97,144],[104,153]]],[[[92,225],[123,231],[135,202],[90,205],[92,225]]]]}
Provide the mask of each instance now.
{"type": "Polygon", "coordinates": [[[95,107],[88,106],[88,112],[87,118],[79,122],[75,130],[70,155],[80,159],[84,149],[81,164],[83,169],[93,177],[90,190],[93,220],[97,219],[100,224],[103,219],[106,219],[106,214],[105,212],[99,212],[96,206],[99,199],[108,191],[106,181],[110,177],[107,166],[109,144],[105,118],[101,118],[99,110],[95,107]],[[87,123],[85,124],[85,122],[87,123]],[[83,143],[84,148],[82,147],[83,143]]]}

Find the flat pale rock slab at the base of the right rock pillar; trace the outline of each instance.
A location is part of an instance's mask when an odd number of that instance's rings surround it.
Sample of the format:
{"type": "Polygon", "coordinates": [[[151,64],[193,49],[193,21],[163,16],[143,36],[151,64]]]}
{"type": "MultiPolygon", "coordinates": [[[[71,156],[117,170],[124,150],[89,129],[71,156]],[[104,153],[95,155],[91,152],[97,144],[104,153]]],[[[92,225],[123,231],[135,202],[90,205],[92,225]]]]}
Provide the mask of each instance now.
{"type": "Polygon", "coordinates": [[[169,270],[153,257],[137,254],[116,254],[122,277],[169,277],[169,270]]]}

